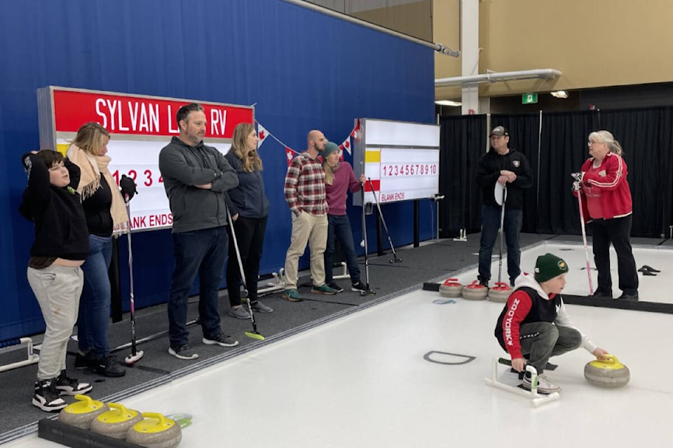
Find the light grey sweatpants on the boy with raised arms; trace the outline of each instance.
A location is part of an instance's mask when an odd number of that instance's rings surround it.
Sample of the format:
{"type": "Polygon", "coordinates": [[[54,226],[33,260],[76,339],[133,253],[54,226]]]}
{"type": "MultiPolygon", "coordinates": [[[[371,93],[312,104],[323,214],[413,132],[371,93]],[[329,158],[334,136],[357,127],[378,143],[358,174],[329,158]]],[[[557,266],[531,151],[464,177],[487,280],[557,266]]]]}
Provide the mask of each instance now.
{"type": "Polygon", "coordinates": [[[84,275],[79,267],[28,268],[28,283],[47,325],[40,350],[37,379],[56,378],[65,369],[65,353],[77,321],[84,275]]]}

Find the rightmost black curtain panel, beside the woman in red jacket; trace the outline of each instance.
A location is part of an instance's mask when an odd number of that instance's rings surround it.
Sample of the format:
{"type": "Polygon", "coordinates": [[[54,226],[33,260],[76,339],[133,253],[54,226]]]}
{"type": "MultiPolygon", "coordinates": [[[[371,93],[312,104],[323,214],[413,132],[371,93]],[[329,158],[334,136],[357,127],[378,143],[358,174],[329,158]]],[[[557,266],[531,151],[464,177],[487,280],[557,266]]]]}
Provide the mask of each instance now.
{"type": "Polygon", "coordinates": [[[599,129],[624,150],[633,199],[634,237],[669,235],[673,224],[673,108],[600,111],[599,129]]]}

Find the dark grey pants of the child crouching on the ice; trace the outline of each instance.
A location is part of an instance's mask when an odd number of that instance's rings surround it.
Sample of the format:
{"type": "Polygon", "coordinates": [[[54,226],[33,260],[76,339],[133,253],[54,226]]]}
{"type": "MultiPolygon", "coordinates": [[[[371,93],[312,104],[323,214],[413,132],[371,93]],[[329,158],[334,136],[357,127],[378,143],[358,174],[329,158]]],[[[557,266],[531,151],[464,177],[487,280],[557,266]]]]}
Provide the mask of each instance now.
{"type": "Polygon", "coordinates": [[[528,354],[528,363],[536,368],[538,374],[542,374],[549,358],[578,349],[582,344],[582,335],[574,328],[533,322],[521,325],[519,342],[524,356],[528,354]]]}

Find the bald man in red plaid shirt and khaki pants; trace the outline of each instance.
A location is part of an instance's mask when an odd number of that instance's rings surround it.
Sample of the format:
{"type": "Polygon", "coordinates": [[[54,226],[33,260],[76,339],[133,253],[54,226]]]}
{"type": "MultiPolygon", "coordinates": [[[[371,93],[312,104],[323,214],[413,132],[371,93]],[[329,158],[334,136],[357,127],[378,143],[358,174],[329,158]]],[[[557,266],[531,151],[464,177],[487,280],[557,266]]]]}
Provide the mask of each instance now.
{"type": "Polygon", "coordinates": [[[303,300],[297,291],[299,257],[311,250],[311,276],[313,294],[334,295],[337,290],[325,284],[325,259],[327,245],[327,199],[325,197],[325,170],[318,155],[325,149],[327,139],[318,130],[308,132],[308,148],[297,155],[285,176],[285,201],[292,211],[292,239],[285,256],[285,292],[283,298],[290,302],[303,300]]]}

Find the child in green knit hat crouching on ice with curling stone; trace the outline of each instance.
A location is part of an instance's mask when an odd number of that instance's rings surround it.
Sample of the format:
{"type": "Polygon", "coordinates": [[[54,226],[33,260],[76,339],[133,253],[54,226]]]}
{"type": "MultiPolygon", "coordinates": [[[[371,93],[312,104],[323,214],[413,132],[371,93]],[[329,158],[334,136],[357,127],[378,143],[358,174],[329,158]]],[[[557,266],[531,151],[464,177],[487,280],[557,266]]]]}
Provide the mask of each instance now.
{"type": "MultiPolygon", "coordinates": [[[[527,363],[538,371],[538,392],[552,393],[561,388],[543,374],[547,361],[582,346],[598,359],[608,353],[599,348],[573,325],[561,298],[566,286],[568,265],[546,253],[535,263],[535,275],[520,275],[515,290],[498,317],[496,338],[510,353],[512,368],[522,372],[527,363]],[[525,358],[525,359],[524,359],[525,358]]],[[[531,374],[526,372],[522,386],[531,390],[531,374]]]]}

